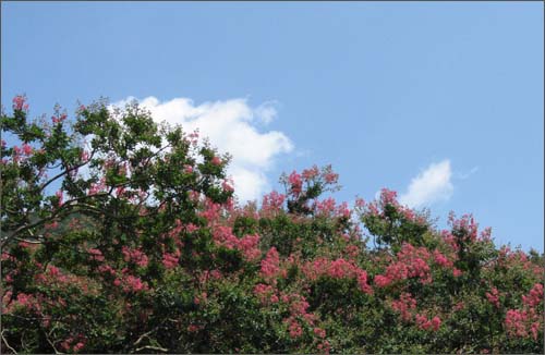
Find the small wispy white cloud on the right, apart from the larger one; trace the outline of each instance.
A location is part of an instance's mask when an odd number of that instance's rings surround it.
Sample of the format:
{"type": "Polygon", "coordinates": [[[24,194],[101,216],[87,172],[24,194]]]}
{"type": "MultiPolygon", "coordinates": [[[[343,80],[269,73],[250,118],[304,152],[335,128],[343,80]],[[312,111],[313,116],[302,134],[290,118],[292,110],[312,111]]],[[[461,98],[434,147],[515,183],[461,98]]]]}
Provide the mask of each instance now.
{"type": "Polygon", "coordinates": [[[448,159],[432,163],[412,179],[407,193],[400,196],[399,201],[409,207],[423,207],[446,201],[452,196],[455,189],[451,178],[452,172],[448,159]]]}

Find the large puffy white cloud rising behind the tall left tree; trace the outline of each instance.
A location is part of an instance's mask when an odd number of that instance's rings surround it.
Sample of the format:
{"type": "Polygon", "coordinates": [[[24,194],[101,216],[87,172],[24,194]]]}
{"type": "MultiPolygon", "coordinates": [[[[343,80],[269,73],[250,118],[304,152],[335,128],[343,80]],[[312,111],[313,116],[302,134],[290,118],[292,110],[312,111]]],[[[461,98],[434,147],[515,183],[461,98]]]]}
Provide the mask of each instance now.
{"type": "MultiPolygon", "coordinates": [[[[113,103],[124,106],[135,98],[113,103]]],[[[293,149],[291,140],[278,131],[258,132],[258,123],[268,124],[277,115],[274,101],[252,108],[245,99],[194,105],[189,98],[159,101],[155,97],[138,100],[157,122],[181,124],[184,132],[198,128],[202,137],[210,139],[220,152],[229,152],[232,161],[228,174],[233,178],[235,193],[244,203],[259,198],[270,188],[265,172],[279,154],[293,149]]]]}

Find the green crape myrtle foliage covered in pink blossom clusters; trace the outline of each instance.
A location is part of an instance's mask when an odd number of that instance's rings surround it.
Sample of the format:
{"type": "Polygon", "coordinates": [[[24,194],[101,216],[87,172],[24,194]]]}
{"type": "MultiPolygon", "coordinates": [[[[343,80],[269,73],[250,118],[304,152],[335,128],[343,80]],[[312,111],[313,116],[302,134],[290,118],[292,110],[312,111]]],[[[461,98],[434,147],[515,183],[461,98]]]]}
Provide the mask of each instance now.
{"type": "Polygon", "coordinates": [[[544,351],[543,255],[469,215],[350,209],[330,167],[240,205],[228,156],[136,103],[17,96],[1,128],[2,353],[544,351]]]}

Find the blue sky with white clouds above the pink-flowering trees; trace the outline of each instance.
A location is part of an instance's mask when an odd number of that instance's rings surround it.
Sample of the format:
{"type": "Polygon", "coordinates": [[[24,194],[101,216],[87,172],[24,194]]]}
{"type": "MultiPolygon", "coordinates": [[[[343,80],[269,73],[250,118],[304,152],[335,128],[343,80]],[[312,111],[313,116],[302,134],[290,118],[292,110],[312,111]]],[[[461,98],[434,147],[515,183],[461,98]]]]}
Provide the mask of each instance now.
{"type": "Polygon", "coordinates": [[[1,7],[4,106],[147,98],[238,151],[246,197],[331,163],[339,200],[389,187],[543,250],[543,3],[1,7]]]}

